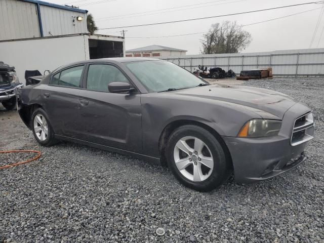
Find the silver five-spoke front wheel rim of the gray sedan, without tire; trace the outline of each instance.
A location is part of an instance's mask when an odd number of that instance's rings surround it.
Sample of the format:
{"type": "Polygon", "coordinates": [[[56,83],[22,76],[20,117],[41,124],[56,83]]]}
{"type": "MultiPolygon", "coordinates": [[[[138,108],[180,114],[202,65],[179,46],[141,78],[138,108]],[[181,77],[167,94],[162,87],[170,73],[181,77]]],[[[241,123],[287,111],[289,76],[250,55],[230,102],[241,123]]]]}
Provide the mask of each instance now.
{"type": "Polygon", "coordinates": [[[214,169],[211,150],[196,137],[183,137],[174,147],[174,161],[179,172],[188,180],[205,181],[214,169]]]}

